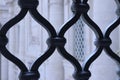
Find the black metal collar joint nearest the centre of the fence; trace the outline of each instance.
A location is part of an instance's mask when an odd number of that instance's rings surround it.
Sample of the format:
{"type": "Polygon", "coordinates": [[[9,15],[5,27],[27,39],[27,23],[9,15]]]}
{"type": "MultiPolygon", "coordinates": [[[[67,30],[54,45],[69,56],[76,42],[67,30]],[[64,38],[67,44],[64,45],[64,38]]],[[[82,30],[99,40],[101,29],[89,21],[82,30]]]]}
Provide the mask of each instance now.
{"type": "Polygon", "coordinates": [[[53,46],[64,46],[66,43],[66,39],[64,37],[55,37],[55,38],[49,38],[47,40],[48,45],[53,46]]]}

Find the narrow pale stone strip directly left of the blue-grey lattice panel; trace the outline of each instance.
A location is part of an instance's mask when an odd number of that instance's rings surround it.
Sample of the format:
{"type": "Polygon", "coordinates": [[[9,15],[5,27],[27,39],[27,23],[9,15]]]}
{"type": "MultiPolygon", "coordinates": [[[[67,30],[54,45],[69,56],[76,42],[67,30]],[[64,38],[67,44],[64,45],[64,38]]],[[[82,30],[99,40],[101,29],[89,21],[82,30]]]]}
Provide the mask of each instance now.
{"type": "MultiPolygon", "coordinates": [[[[64,23],[67,22],[71,17],[73,17],[73,13],[71,11],[72,0],[64,0],[64,23]]],[[[74,26],[72,26],[65,34],[65,38],[67,39],[67,43],[65,45],[66,50],[69,54],[74,55],[74,26]]],[[[73,65],[64,59],[64,80],[74,80],[73,73],[74,67],[73,65]]]]}

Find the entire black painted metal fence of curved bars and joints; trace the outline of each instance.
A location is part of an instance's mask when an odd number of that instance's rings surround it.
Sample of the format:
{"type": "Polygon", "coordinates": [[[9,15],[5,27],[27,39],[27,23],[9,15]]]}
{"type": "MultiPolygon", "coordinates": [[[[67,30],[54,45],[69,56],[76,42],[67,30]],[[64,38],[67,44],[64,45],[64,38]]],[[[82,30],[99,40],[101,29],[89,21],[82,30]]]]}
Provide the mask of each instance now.
{"type": "MultiPolygon", "coordinates": [[[[73,64],[75,68],[75,73],[73,74],[73,77],[75,78],[75,80],[89,80],[91,76],[89,67],[91,63],[99,57],[102,50],[105,50],[111,58],[113,58],[120,64],[120,57],[118,57],[110,48],[110,45],[112,43],[112,40],[110,39],[110,34],[120,24],[120,15],[118,16],[118,19],[106,29],[105,33],[102,33],[99,26],[94,21],[92,21],[92,19],[90,19],[87,14],[90,8],[87,2],[88,0],[83,0],[83,2],[81,0],[73,0],[72,11],[74,13],[74,17],[68,22],[66,22],[66,24],[63,25],[61,30],[57,33],[54,27],[49,23],[49,21],[42,17],[37,11],[36,8],[39,3],[38,0],[18,1],[21,7],[21,11],[15,18],[8,21],[0,30],[0,51],[4,57],[6,57],[8,60],[10,60],[19,67],[19,69],[21,70],[19,76],[20,80],[38,80],[40,78],[38,68],[46,59],[48,59],[53,54],[56,48],[65,59],[67,59],[69,62],[71,62],[71,64],[73,64]],[[43,54],[34,62],[30,70],[21,60],[12,55],[6,48],[6,44],[8,43],[6,33],[13,25],[22,20],[28,11],[32,15],[32,17],[49,33],[49,39],[47,40],[49,46],[48,50],[45,52],[45,54],[43,54]],[[81,65],[72,55],[70,55],[66,51],[64,47],[66,43],[64,34],[73,24],[78,21],[81,16],[84,22],[94,31],[96,35],[96,50],[94,54],[88,58],[84,65],[81,65]]],[[[116,2],[118,4],[118,7],[120,7],[120,0],[117,0],[116,2]]]]}

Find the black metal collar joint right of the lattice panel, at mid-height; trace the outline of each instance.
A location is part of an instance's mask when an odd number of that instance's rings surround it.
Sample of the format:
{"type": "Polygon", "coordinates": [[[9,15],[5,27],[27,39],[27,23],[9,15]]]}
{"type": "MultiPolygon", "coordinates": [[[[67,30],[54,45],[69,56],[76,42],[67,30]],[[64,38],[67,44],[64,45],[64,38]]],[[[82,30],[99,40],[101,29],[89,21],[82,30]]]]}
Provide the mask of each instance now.
{"type": "Polygon", "coordinates": [[[96,40],[94,42],[94,44],[96,46],[103,46],[103,47],[110,46],[111,43],[112,43],[112,41],[111,41],[110,38],[103,38],[103,39],[100,39],[100,40],[96,40]]]}

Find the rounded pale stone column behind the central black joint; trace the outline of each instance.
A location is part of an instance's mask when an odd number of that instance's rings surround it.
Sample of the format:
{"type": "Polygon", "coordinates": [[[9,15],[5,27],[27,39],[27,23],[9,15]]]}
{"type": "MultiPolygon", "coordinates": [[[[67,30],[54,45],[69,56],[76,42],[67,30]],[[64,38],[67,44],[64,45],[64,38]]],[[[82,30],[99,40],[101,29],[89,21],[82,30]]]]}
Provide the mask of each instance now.
{"type": "MultiPolygon", "coordinates": [[[[64,1],[49,0],[49,20],[58,31],[64,21],[64,1]]],[[[46,80],[64,80],[63,58],[57,51],[48,59],[46,63],[46,80]]]]}

